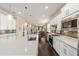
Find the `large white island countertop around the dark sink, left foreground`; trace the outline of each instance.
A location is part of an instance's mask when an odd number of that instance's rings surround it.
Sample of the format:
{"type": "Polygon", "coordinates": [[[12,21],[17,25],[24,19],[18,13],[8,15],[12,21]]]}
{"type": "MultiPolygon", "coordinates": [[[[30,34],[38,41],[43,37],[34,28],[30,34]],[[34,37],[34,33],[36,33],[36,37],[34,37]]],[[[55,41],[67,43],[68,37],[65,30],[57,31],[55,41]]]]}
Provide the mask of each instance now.
{"type": "MultiPolygon", "coordinates": [[[[6,34],[3,36],[8,36],[6,34]]],[[[26,39],[1,39],[0,40],[0,56],[37,56],[38,55],[38,35],[36,40],[28,41],[26,39]]],[[[2,37],[2,36],[1,36],[2,37]]]]}

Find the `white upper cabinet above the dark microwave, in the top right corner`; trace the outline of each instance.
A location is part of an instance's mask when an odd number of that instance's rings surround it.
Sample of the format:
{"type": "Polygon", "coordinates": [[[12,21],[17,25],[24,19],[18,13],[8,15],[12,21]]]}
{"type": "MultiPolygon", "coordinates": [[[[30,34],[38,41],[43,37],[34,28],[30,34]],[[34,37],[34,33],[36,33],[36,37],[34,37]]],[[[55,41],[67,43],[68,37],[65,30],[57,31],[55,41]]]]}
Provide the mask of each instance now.
{"type": "Polygon", "coordinates": [[[72,13],[79,11],[79,4],[78,3],[67,3],[62,9],[62,16],[66,17],[72,13]]]}

